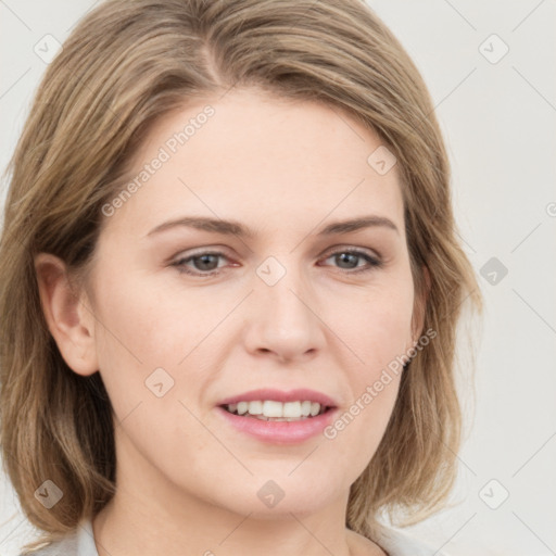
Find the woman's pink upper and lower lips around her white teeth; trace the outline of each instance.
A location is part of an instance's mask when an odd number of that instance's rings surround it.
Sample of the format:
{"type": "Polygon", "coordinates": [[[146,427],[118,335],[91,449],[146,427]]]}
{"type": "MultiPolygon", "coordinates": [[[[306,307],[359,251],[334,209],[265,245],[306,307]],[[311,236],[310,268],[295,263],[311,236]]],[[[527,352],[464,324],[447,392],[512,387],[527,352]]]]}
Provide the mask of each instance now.
{"type": "Polygon", "coordinates": [[[338,410],[337,404],[331,397],[307,389],[290,390],[288,392],[274,389],[251,390],[223,400],[216,409],[237,430],[273,444],[296,444],[320,434],[323,429],[332,422],[338,410]],[[328,409],[316,417],[307,417],[298,421],[265,421],[255,417],[235,415],[223,407],[238,402],[254,402],[257,400],[274,400],[282,403],[308,400],[327,406],[328,409]]]}

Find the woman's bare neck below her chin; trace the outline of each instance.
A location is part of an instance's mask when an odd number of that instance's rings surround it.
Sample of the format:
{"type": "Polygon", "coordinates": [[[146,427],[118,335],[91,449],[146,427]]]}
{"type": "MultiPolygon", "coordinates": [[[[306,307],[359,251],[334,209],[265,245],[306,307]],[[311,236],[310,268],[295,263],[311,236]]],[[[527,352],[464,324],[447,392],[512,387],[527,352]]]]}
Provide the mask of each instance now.
{"type": "Polygon", "coordinates": [[[332,513],[257,519],[202,503],[153,508],[118,491],[93,520],[93,532],[99,556],[350,556],[351,534],[338,523],[332,513]]]}

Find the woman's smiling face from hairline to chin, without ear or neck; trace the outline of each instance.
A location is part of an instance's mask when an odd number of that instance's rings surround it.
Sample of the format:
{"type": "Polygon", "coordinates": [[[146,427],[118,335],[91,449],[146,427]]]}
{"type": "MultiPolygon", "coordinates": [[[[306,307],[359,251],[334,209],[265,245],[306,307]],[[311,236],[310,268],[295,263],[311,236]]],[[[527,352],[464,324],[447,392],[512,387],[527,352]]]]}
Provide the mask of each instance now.
{"type": "Polygon", "coordinates": [[[253,90],[206,105],[159,122],[103,208],[89,306],[118,481],[168,511],[345,503],[393,409],[383,371],[413,345],[397,167],[336,109],[253,90]]]}

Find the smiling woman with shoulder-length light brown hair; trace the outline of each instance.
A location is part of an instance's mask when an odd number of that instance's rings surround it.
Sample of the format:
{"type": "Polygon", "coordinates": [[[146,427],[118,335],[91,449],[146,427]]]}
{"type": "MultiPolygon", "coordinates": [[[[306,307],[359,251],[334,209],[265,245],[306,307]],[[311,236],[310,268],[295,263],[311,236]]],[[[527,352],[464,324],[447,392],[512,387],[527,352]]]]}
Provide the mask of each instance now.
{"type": "Polygon", "coordinates": [[[1,441],[45,531],[26,549],[435,551],[380,517],[450,493],[480,295],[430,97],[363,2],[105,2],[11,169],[1,441]]]}

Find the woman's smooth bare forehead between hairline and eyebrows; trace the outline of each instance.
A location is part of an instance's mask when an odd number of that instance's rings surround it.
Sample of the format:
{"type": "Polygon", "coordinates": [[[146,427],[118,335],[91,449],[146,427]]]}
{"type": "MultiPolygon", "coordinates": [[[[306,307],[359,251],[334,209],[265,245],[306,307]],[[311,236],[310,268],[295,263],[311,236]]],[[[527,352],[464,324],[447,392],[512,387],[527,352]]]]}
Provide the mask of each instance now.
{"type": "Polygon", "coordinates": [[[135,192],[111,219],[144,235],[184,214],[283,228],[370,211],[402,229],[397,168],[377,172],[380,149],[377,134],[336,106],[233,90],[150,129],[127,175],[135,192]]]}

